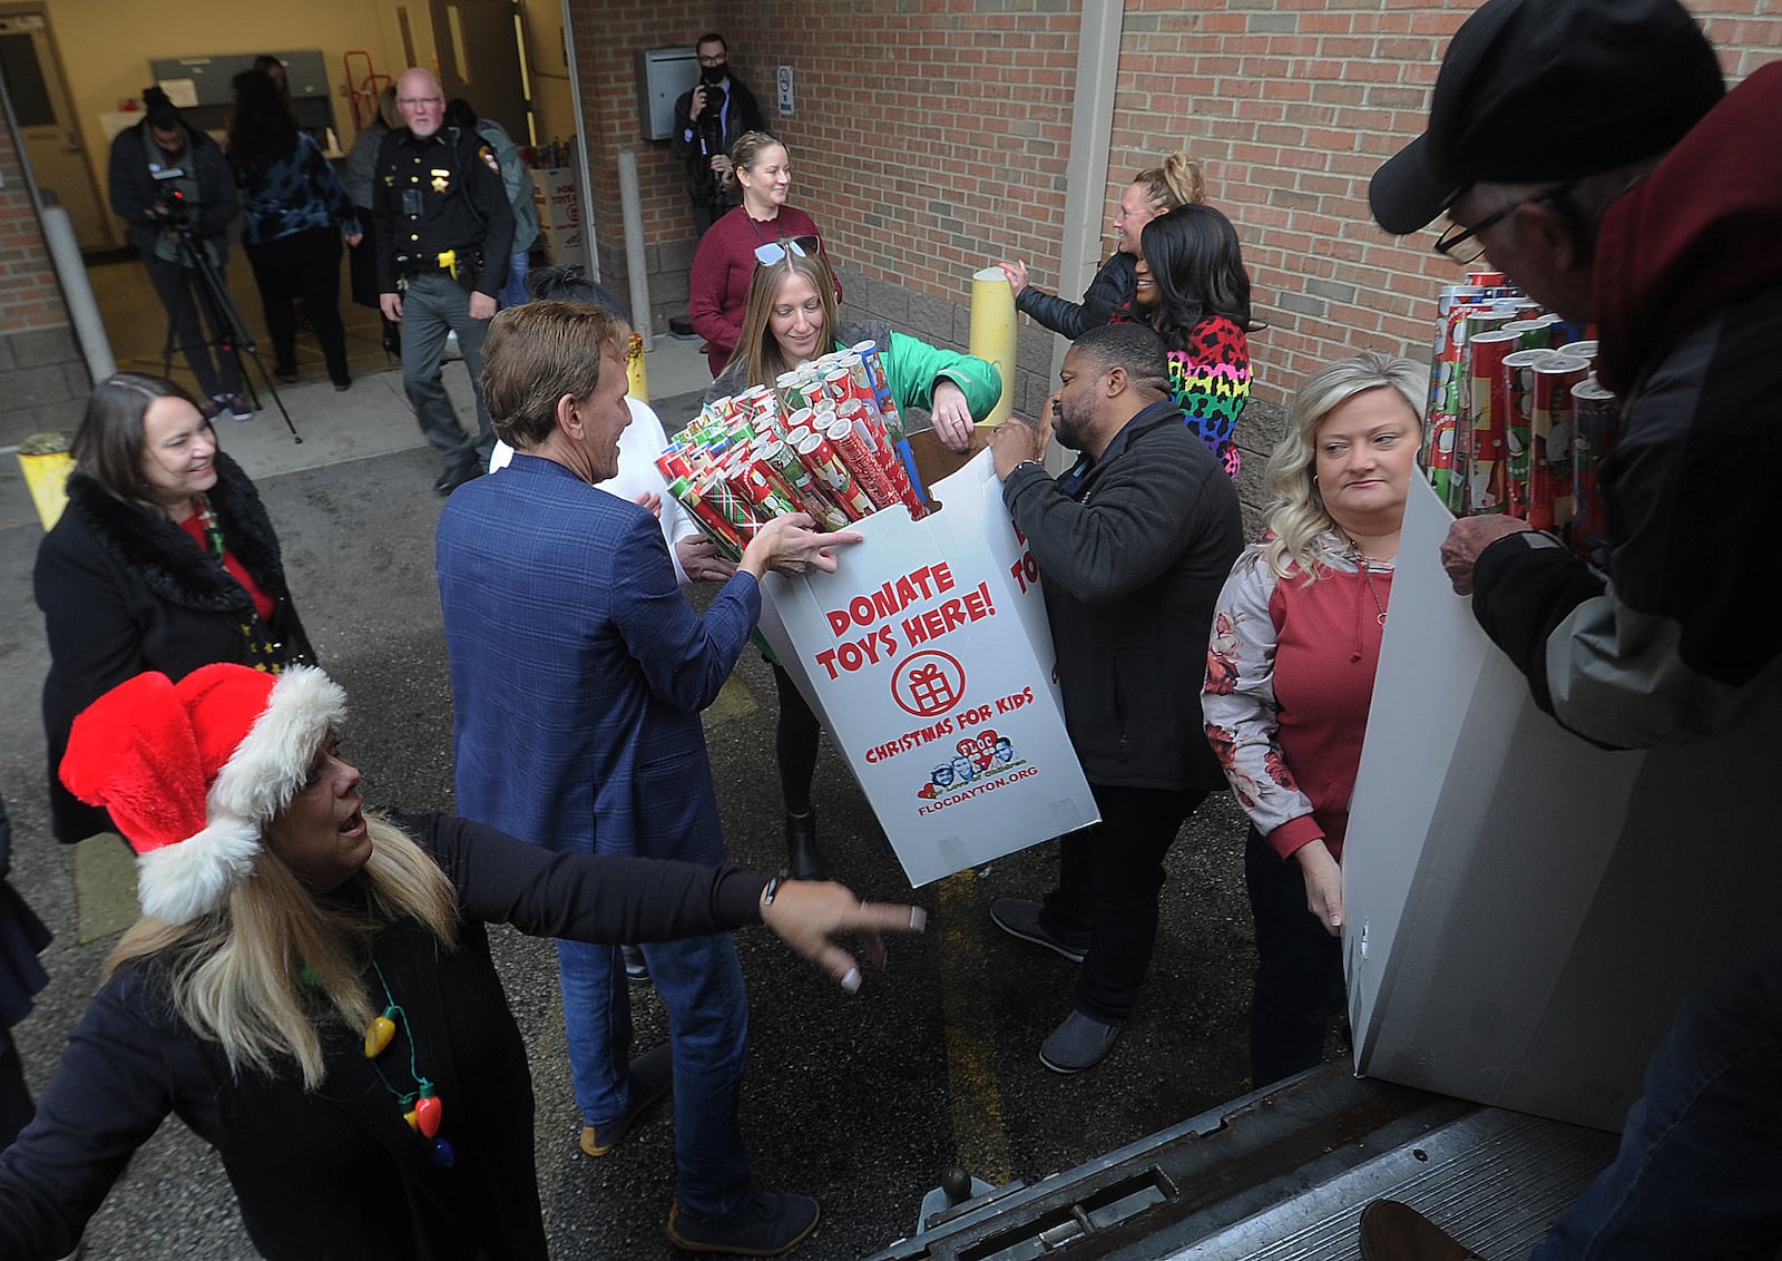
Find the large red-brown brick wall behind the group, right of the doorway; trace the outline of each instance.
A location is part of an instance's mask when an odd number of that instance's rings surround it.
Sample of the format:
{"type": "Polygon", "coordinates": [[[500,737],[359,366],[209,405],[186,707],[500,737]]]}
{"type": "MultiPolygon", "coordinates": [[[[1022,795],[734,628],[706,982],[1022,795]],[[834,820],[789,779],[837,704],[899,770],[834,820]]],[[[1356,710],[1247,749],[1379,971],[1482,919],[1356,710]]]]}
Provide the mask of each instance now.
{"type": "MultiPolygon", "coordinates": [[[[1262,403],[1283,403],[1308,370],[1354,349],[1424,353],[1431,297],[1454,267],[1429,251],[1427,235],[1381,233],[1367,214],[1367,180],[1422,130],[1442,48],[1474,7],[1126,2],[1103,207],[1164,153],[1201,159],[1271,326],[1253,340],[1262,403]]],[[[1693,7],[1729,75],[1782,55],[1773,0],[1693,7]]],[[[793,203],[822,224],[855,313],[962,344],[977,267],[1023,256],[1035,283],[1055,287],[1080,0],[572,0],[572,9],[584,109],[601,119],[590,125],[595,160],[620,144],[640,150],[658,315],[683,310],[691,219],[666,142],[638,139],[631,55],[713,27],[791,146],[793,203]],[[797,78],[789,119],[772,100],[779,64],[797,78]]],[[[622,276],[617,194],[595,228],[602,271],[622,276]]],[[[1023,319],[1021,411],[1044,397],[1050,367],[1051,337],[1023,319]]],[[[1253,442],[1265,451],[1272,435],[1253,442]]]]}

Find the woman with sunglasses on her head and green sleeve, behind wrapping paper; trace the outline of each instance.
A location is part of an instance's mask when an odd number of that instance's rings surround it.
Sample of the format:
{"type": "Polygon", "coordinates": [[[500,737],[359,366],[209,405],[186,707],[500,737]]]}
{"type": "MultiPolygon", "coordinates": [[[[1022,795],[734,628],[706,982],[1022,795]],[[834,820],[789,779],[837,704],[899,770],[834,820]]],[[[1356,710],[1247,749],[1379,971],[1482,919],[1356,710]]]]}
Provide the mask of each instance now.
{"type": "MultiPolygon", "coordinates": [[[[711,235],[706,233],[706,239],[711,235]]],[[[941,442],[952,451],[969,449],[971,426],[987,417],[1001,399],[1001,376],[996,369],[977,356],[905,337],[882,321],[839,322],[829,262],[793,239],[772,240],[756,249],[741,338],[729,367],[706,390],[706,401],[757,385],[772,386],[789,369],[859,342],[879,347],[898,411],[927,410],[941,442]]],[[[789,869],[800,878],[814,878],[820,864],[811,777],[816,771],[822,727],[779,663],[773,664],[773,684],[781,704],[775,753],[781,794],[786,800],[789,869]]]]}

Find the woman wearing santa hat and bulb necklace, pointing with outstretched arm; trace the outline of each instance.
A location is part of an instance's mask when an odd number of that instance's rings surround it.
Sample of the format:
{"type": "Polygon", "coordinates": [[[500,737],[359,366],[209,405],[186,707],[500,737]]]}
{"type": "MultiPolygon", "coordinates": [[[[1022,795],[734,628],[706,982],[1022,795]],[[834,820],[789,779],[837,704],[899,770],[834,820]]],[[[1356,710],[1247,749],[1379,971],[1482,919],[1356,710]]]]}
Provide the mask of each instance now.
{"type": "Polygon", "coordinates": [[[75,720],[62,782],[137,851],[144,915],[0,1156],[0,1256],[68,1252],[171,1111],[267,1257],[544,1261],[531,1078],[485,921],[604,942],[766,923],[848,990],[838,933],[882,960],[880,932],[923,926],[836,883],[369,814],[344,718],[315,668],[212,664],[75,720]]]}

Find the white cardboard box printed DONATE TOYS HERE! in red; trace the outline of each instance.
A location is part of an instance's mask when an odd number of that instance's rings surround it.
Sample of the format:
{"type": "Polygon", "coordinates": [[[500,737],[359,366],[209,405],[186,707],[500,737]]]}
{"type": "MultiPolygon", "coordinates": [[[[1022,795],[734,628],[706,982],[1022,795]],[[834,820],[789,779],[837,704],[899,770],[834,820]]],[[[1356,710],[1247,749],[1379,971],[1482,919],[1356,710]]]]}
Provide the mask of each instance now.
{"type": "Polygon", "coordinates": [[[941,508],[855,524],[836,574],[768,574],[761,630],[823,718],[911,885],[1094,823],[1039,570],[977,454],[911,438],[941,508]],[[950,476],[948,476],[950,472],[950,476]]]}

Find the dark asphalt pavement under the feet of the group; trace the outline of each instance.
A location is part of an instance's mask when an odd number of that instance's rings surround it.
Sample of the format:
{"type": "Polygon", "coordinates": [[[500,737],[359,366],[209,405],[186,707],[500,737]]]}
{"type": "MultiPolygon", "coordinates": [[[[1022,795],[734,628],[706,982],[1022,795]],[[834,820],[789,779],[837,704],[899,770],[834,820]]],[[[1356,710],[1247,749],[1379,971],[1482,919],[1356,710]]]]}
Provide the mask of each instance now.
{"type": "MultiPolygon", "coordinates": [[[[697,342],[658,338],[650,392],[704,388],[697,342]],[[681,362],[695,374],[681,378],[681,362]],[[683,381],[686,381],[683,385],[683,381]]],[[[462,370],[447,369],[462,388],[462,370]]],[[[323,664],[346,687],[347,755],[367,796],[394,809],[451,809],[451,695],[433,581],[437,460],[421,443],[396,372],[282,392],[305,442],[276,413],[223,422],[226,449],[260,486],[287,550],[290,584],[323,664]]],[[[460,413],[469,413],[460,394],[460,413]]],[[[52,985],[18,1029],[41,1088],[66,1033],[98,985],[114,940],[82,942],[77,860],[45,826],[37,691],[46,670],[30,563],[41,529],[16,463],[0,463],[0,787],[16,834],[14,883],[57,930],[52,985]]],[[[1187,648],[1185,648],[1187,650],[1187,648]]],[[[772,750],[773,684],[745,654],[706,716],[725,834],[736,860],[784,860],[772,750]]],[[[816,809],[832,873],[873,901],[916,899],[932,912],[920,940],[891,942],[848,997],[764,930],[740,933],[750,985],[750,1072],[743,1127],[764,1186],[814,1193],[825,1220],[795,1256],[857,1257],[907,1234],[941,1170],[966,1163],[989,1181],[1035,1179],[1238,1094],[1244,1072],[1251,928],[1240,878],[1242,823],[1224,800],[1189,823],[1171,858],[1164,933],[1140,1010],[1112,1056],[1080,1078],[1042,1069],[1039,1040],[1062,1019],[1064,960],[989,926],[991,898],[1046,887],[1053,850],[909,891],[846,768],[825,744],[816,809]]],[[[112,864],[116,866],[116,864],[112,864]]],[[[116,873],[114,873],[116,876],[116,873]]],[[[116,880],[114,880],[116,883],[116,880]]],[[[552,1254],[672,1257],[663,1222],[674,1186],[670,1113],[609,1158],[576,1145],[554,951],[492,933],[510,1001],[527,1037],[536,1163],[552,1254]]],[[[666,1035],[654,992],[636,997],[640,1049],[666,1035]]],[[[168,1124],[134,1161],[89,1233],[93,1257],[249,1257],[217,1159],[168,1124]]]]}

